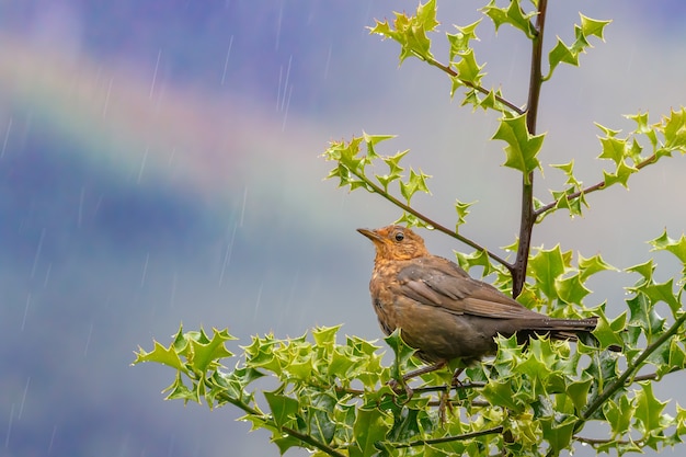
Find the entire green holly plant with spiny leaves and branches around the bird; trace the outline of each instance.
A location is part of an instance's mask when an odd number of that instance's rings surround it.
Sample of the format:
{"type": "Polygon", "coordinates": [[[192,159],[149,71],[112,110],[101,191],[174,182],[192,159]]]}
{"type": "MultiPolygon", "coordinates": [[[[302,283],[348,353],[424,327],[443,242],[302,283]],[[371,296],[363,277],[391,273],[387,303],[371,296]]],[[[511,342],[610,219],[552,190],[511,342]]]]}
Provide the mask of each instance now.
{"type": "Polygon", "coordinates": [[[253,336],[235,357],[226,347],[233,340],[227,330],[207,334],[180,328],[169,346],[156,341],[152,351],[139,349],[136,354],[135,364],[153,362],[176,372],[165,390],[168,399],[204,401],[210,408],[232,404],[253,429],[268,430],[282,453],[304,447],[332,456],[557,456],[581,443],[598,453],[614,449],[622,455],[682,443],[686,410],[675,404],[670,414],[668,401],[658,398],[655,386],[686,368],[686,237],[673,239],[665,230],[650,241],[654,251],[676,258],[681,276],[656,281],[652,260],[624,269],[638,279],[627,287],[626,310],[610,318],[605,304],[586,306],[584,300],[593,275],[618,269],[599,254],[574,256],[559,244],[533,248],[530,235],[547,215],[558,209],[582,215],[588,194],[617,183],[627,187],[629,178],[649,164],[686,153],[686,108],[672,110],[658,123],[649,122],[648,113],[629,115],[636,127],[626,135],[598,124],[598,159],[607,164],[602,179],[584,184],[574,173],[573,159],[549,164],[563,173],[565,182],[550,191],[549,202],[534,198],[534,180],[545,163],[545,134],[536,133],[540,87],[561,64],[579,66],[581,54],[592,48],[591,39],[604,39],[610,21],[580,14],[572,43],[557,37],[546,50],[547,0],[502,3],[490,0],[481,20],[445,33],[448,50],[443,61],[433,50],[432,39],[441,26],[435,0],[420,3],[413,13],[396,12],[391,21],[376,21],[369,30],[400,46],[401,65],[411,57],[426,62],[448,77],[451,98],[462,90],[462,105],[500,116],[492,139],[504,144],[503,165],[522,174],[523,195],[519,237],[502,249],[506,255],[460,231],[476,202],[456,198],[454,226],[442,225],[414,206],[418,193],[431,194],[431,175],[403,163],[408,150],[378,152],[379,144],[391,135],[363,133],[331,142],[323,153],[334,163],[328,178],[350,191],[364,188],[384,197],[402,210],[398,224],[436,229],[469,245],[471,253],[456,253],[458,263],[465,270],[481,269],[482,276],[493,278],[523,305],[552,317],[596,316],[593,336],[571,345],[547,338],[521,345],[515,336],[499,338],[492,361],[470,367],[454,361],[408,381],[404,375],[420,363],[401,331],[385,339],[392,350],[386,357],[373,341],[345,336],[340,343],[340,327],[318,328],[295,339],[253,336]],[[485,64],[476,47],[482,23],[492,23],[496,31],[513,27],[530,42],[525,104],[485,85],[485,64]],[[546,53],[548,66],[541,69],[546,53]],[[235,367],[229,368],[225,361],[232,357],[235,367]],[[464,369],[459,381],[454,379],[455,369],[464,369]],[[276,387],[259,395],[265,379],[276,387]],[[598,423],[605,426],[602,436],[598,423]]]}

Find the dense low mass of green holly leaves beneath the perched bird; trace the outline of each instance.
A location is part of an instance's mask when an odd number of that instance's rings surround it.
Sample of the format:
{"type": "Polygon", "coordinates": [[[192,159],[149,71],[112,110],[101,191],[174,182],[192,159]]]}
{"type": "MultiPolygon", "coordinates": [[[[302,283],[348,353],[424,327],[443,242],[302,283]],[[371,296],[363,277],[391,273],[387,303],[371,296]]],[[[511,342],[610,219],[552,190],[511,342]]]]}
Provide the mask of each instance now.
{"type": "MultiPolygon", "coordinates": [[[[666,233],[652,241],[672,252],[686,272],[686,238],[666,233]]],[[[561,276],[588,276],[610,269],[599,256],[580,258],[569,265],[570,253],[559,248],[540,250],[531,262],[533,276],[551,289],[541,296],[562,301],[568,290],[561,276]]],[[[159,342],[139,349],[134,364],[153,362],[173,368],[175,379],[168,399],[206,402],[210,408],[230,403],[245,412],[254,429],[266,429],[282,453],[305,447],[316,455],[410,456],[558,455],[574,443],[619,454],[644,446],[660,449],[681,443],[686,435],[686,410],[665,412],[653,380],[686,368],[686,312],[683,287],[672,281],[656,283],[652,261],[628,269],[639,275],[629,290],[628,312],[615,319],[601,306],[592,312],[599,324],[595,340],[568,342],[547,338],[518,344],[516,336],[500,338],[494,359],[467,367],[453,381],[454,364],[424,374],[407,385],[403,375],[415,369],[414,350],[400,331],[386,339],[392,359],[386,363],[373,341],[345,336],[340,327],[318,328],[300,338],[279,340],[253,336],[233,357],[227,330],[184,332],[169,346],[159,342]],[[666,302],[672,316],[663,318],[658,305],[666,302]],[[618,345],[621,353],[607,349],[618,345]],[[645,370],[648,375],[639,375],[645,370]],[[256,380],[268,377],[273,390],[255,395],[256,380]],[[604,438],[585,436],[590,421],[609,425],[604,438]]],[[[686,283],[686,273],[679,284],[686,283]]],[[[582,284],[583,285],[583,284],[582,284]]],[[[571,308],[569,308],[571,309],[571,308]]]]}

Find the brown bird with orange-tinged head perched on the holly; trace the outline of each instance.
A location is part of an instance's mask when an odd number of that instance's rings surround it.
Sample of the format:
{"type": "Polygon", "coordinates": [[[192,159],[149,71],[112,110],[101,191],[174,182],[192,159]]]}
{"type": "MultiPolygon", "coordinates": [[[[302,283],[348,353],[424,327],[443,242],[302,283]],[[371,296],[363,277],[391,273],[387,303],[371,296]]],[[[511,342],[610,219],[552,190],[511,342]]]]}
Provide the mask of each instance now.
{"type": "Polygon", "coordinates": [[[575,341],[596,327],[597,318],[553,319],[525,308],[455,262],[430,254],[409,228],[357,231],[376,248],[369,292],[384,333],[400,328],[405,343],[436,368],[494,354],[499,334],[516,333],[521,343],[544,334],[575,341]]]}

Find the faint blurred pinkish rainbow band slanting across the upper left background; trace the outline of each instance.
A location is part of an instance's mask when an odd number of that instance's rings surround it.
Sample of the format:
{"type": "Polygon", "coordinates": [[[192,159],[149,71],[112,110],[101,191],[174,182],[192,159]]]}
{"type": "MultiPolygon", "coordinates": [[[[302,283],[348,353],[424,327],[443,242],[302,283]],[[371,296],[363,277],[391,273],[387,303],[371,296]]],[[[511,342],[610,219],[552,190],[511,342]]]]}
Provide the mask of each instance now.
{"type": "MultiPolygon", "coordinates": [[[[12,112],[28,113],[73,144],[75,158],[134,183],[164,178],[203,193],[242,194],[265,163],[272,170],[285,163],[277,152],[288,138],[308,137],[296,122],[282,132],[283,119],[254,102],[175,85],[157,68],[98,61],[7,34],[0,43],[0,98],[12,112]]],[[[22,119],[3,115],[0,134],[20,129],[22,119]]],[[[324,146],[312,142],[307,157],[300,150],[288,160],[315,161],[324,146]]]]}

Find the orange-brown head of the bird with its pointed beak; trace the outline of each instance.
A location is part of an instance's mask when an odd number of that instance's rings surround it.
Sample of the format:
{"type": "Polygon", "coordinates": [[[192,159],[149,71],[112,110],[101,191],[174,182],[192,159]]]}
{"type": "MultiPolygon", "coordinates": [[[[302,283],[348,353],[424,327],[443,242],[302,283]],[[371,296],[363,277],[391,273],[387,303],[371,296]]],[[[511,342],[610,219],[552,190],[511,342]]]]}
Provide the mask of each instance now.
{"type": "Polygon", "coordinates": [[[376,248],[376,258],[384,260],[410,260],[428,255],[422,237],[402,226],[388,226],[375,230],[357,229],[376,248]]]}

